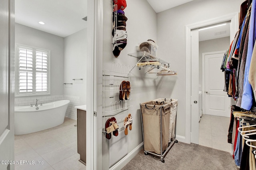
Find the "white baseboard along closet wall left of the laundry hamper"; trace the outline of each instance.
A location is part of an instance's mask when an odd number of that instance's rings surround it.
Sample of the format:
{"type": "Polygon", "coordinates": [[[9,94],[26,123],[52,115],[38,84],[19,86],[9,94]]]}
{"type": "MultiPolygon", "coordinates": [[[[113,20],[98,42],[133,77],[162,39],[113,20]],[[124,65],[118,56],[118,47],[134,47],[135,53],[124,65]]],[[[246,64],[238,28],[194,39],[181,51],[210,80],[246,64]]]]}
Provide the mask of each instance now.
{"type": "Polygon", "coordinates": [[[124,158],[122,158],[120,161],[118,161],[116,164],[114,164],[112,167],[110,167],[110,170],[120,170],[123,168],[132,158],[140,152],[140,150],[143,148],[143,142],[139,144],[132,152],[128,153],[124,158]]]}

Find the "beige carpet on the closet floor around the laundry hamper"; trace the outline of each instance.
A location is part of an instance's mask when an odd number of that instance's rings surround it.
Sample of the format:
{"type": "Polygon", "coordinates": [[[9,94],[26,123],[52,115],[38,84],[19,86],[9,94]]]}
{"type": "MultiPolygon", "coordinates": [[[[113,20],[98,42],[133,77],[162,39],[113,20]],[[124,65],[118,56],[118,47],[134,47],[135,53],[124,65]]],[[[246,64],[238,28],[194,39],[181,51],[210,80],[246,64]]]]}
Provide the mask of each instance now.
{"type": "Polygon", "coordinates": [[[164,161],[141,150],[122,170],[238,170],[229,152],[182,142],[172,146],[164,161]]]}

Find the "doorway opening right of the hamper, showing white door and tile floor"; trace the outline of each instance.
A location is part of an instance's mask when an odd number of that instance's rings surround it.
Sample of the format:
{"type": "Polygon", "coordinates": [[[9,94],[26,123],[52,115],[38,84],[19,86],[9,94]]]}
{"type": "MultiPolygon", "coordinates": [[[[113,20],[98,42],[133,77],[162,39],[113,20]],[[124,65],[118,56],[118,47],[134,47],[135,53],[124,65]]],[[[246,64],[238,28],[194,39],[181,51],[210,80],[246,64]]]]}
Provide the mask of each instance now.
{"type": "Polygon", "coordinates": [[[220,69],[225,50],[230,46],[230,22],[200,28],[198,32],[199,91],[202,92],[198,144],[230,152],[227,142],[230,98],[223,91],[224,72],[220,69]]]}

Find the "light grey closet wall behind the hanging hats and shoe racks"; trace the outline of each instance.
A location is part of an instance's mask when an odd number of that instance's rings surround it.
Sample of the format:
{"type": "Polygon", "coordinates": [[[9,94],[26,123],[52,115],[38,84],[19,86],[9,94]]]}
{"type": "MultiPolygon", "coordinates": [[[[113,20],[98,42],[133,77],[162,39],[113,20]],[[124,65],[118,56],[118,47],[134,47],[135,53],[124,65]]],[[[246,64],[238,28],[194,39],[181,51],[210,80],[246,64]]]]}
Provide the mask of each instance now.
{"type": "MultiPolygon", "coordinates": [[[[120,55],[116,58],[112,53],[112,0],[104,0],[103,10],[103,68],[111,69],[112,62],[116,64],[124,65],[136,65],[138,59],[130,57],[128,53],[136,52],[136,45],[144,42],[148,39],[157,41],[157,23],[156,12],[151,8],[146,0],[127,0],[127,7],[124,9],[125,16],[128,18],[126,22],[126,31],[128,34],[127,45],[121,51],[120,55]]],[[[156,85],[158,84],[158,77],[156,75],[144,75],[145,70],[139,70],[135,67],[130,76],[130,82],[132,83],[132,90],[130,92],[130,99],[132,107],[129,108],[129,112],[125,111],[115,117],[117,120],[122,119],[131,113],[133,118],[132,130],[128,130],[128,135],[125,136],[127,140],[128,154],[142,143],[142,128],[140,118],[140,103],[147,102],[152,99],[156,99],[156,85]]],[[[126,79],[124,79],[126,80],[126,79]]],[[[98,84],[99,86],[102,84],[98,84]]],[[[98,92],[102,93],[102,92],[98,92]]],[[[116,94],[116,93],[115,93],[116,94]]],[[[98,94],[100,99],[101,95],[98,94]]],[[[116,97],[116,95],[115,95],[116,97]]],[[[108,98],[109,99],[109,98],[108,98]]],[[[116,98],[118,99],[118,97],[116,98]]],[[[110,103],[110,100],[106,98],[106,104],[110,103]]],[[[103,103],[104,104],[104,103],[103,103]]],[[[104,128],[105,122],[102,119],[102,127],[104,128]]],[[[124,131],[120,132],[123,134],[124,131]]],[[[120,134],[118,136],[120,136],[120,134]]],[[[117,138],[112,136],[112,138],[117,138]]],[[[112,140],[112,139],[110,139],[112,140]]],[[[109,140],[105,138],[105,134],[102,135],[102,168],[109,169],[109,140]]],[[[118,149],[122,147],[118,144],[114,145],[118,149]]]]}

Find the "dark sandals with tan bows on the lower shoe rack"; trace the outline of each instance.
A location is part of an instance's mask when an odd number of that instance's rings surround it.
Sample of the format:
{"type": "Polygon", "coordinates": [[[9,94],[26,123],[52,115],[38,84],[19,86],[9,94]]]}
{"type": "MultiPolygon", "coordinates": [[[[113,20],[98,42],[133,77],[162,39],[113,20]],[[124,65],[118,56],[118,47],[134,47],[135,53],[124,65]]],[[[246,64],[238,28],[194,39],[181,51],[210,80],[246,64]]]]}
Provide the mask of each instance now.
{"type": "Polygon", "coordinates": [[[118,136],[118,125],[116,123],[116,118],[112,117],[109,118],[106,123],[105,123],[105,131],[106,133],[106,138],[110,139],[111,138],[111,132],[113,132],[114,136],[118,136]]]}

